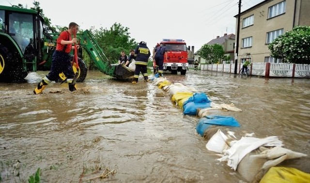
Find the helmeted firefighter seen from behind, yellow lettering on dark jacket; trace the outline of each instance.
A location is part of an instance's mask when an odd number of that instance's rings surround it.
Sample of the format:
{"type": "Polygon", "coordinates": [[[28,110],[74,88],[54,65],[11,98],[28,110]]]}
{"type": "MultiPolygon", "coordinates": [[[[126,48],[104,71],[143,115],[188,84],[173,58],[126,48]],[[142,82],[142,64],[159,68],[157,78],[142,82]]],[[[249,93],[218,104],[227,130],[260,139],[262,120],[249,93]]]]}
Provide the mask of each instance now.
{"type": "Polygon", "coordinates": [[[151,56],[150,49],[146,46],[144,41],[141,41],[137,48],[135,49],[135,57],[136,57],[136,70],[134,75],[134,80],[132,83],[137,83],[139,79],[140,72],[144,76],[144,81],[148,81],[147,76],[147,62],[149,57],[151,56]]]}

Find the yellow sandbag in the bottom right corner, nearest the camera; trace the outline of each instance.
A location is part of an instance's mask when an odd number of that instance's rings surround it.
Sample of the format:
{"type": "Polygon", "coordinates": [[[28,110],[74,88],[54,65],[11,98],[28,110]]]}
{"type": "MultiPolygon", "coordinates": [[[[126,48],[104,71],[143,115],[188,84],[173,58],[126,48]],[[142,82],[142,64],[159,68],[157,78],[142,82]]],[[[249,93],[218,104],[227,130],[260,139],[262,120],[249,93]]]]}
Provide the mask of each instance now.
{"type": "Polygon", "coordinates": [[[309,183],[310,174],[296,168],[271,167],[260,183],[309,183]]]}

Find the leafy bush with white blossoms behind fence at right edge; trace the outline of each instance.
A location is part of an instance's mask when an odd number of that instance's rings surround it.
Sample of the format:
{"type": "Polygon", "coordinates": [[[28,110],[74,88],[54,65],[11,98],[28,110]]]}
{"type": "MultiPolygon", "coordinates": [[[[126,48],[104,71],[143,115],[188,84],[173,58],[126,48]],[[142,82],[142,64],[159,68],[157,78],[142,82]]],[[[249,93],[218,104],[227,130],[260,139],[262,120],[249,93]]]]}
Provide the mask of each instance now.
{"type": "Polygon", "coordinates": [[[310,64],[310,26],[294,27],[268,46],[270,56],[282,62],[310,64]]]}

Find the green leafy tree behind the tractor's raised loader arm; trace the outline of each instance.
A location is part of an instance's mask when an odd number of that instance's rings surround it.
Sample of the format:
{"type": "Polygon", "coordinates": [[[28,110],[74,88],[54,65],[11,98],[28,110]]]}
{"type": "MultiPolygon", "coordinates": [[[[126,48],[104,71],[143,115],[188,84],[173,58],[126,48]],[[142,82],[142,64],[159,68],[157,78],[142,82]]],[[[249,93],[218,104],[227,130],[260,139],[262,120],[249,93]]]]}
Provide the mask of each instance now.
{"type": "Polygon", "coordinates": [[[128,31],[129,28],[123,27],[120,23],[114,23],[109,30],[102,27],[99,30],[91,30],[95,40],[113,63],[117,62],[122,50],[129,55],[129,50],[138,46],[128,31]]]}

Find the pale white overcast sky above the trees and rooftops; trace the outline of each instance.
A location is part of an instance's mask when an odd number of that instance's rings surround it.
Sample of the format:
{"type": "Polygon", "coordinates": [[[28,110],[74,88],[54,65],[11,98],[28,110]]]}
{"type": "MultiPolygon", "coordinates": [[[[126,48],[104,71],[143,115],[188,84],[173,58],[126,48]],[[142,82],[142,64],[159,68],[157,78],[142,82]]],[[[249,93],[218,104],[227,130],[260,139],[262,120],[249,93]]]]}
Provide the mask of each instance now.
{"type": "MultiPolygon", "coordinates": [[[[163,38],[183,39],[197,51],[224,33],[235,33],[239,0],[36,0],[52,25],[76,22],[80,29],[109,29],[115,22],[129,28],[137,42],[151,49],[163,38]]],[[[242,0],[244,11],[263,0],[242,0]]],[[[0,0],[0,5],[33,0],[0,0]]]]}

